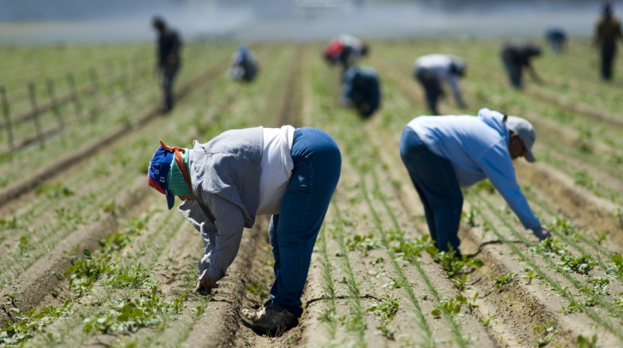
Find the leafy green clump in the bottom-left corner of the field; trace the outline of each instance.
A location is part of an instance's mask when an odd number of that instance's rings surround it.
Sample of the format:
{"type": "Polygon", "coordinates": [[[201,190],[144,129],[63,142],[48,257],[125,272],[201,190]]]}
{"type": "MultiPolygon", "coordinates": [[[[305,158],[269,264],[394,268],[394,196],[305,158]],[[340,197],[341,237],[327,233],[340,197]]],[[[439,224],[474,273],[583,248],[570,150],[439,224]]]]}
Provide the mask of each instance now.
{"type": "Polygon", "coordinates": [[[59,317],[72,315],[72,306],[73,302],[67,300],[61,306],[41,308],[38,312],[36,308],[24,314],[17,308],[6,309],[10,313],[13,322],[8,322],[8,325],[0,330],[0,344],[18,345],[32,338],[36,333],[43,331],[46,326],[52,324],[52,322],[59,317]]]}

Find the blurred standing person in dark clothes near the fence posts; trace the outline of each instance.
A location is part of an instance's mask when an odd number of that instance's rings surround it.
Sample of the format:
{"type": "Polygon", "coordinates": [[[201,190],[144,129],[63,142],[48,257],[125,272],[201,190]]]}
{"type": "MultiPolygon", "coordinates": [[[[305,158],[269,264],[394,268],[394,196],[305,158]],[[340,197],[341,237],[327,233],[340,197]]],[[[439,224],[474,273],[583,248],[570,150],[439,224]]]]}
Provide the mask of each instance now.
{"type": "Polygon", "coordinates": [[[173,80],[180,69],[180,35],[169,29],[161,17],[152,20],[152,26],[158,32],[156,62],[160,74],[160,83],[164,95],[164,108],[173,109],[173,80]]]}

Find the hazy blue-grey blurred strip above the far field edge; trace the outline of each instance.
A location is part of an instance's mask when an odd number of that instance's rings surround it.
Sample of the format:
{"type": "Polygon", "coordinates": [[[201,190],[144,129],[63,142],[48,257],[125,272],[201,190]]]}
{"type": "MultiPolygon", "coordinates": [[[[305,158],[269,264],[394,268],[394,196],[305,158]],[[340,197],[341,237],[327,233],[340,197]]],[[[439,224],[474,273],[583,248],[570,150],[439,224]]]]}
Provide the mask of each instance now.
{"type": "MultiPolygon", "coordinates": [[[[623,3],[615,2],[615,13],[623,3]]],[[[601,1],[0,0],[0,43],[151,40],[164,17],[187,39],[318,40],[534,37],[561,26],[587,37],[601,1]]]]}

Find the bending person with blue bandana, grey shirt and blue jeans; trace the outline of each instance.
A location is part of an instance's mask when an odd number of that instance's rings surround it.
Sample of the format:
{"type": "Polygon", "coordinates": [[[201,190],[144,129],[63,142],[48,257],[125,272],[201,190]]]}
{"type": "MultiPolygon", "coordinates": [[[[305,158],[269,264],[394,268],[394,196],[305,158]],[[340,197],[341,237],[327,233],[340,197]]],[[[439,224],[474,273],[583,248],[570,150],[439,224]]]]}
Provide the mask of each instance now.
{"type": "Polygon", "coordinates": [[[193,148],[160,142],[148,182],[175,196],[179,210],[205,246],[196,291],[208,294],[236,258],[242,231],[271,215],[269,237],[275,280],[270,298],[253,316],[253,329],[271,337],[298,324],[313,247],[340,178],[335,141],[320,129],[255,127],[223,132],[193,148]]]}

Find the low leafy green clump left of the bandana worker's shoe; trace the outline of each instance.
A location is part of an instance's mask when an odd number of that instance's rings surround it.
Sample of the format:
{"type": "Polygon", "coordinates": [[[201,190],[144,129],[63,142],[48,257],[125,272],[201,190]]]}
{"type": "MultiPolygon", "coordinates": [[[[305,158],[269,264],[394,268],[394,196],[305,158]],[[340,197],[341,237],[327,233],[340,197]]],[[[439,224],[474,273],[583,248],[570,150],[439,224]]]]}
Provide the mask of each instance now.
{"type": "Polygon", "coordinates": [[[173,302],[163,301],[156,286],[150,292],[141,292],[134,301],[128,299],[111,303],[108,312],[84,319],[86,333],[132,333],[141,327],[158,326],[161,315],[178,314],[184,309],[183,296],[173,302]]]}

